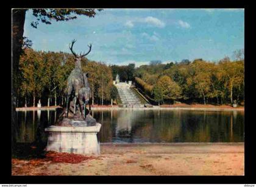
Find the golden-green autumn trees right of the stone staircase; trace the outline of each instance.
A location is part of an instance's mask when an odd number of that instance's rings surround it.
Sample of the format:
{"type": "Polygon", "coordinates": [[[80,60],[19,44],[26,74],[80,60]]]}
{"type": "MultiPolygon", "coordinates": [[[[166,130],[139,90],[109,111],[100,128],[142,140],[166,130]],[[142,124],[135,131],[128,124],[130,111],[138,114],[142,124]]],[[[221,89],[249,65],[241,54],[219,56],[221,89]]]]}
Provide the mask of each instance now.
{"type": "Polygon", "coordinates": [[[204,104],[244,102],[244,59],[228,57],[217,63],[196,59],[182,63],[143,65],[135,83],[158,104],[174,101],[204,104]]]}

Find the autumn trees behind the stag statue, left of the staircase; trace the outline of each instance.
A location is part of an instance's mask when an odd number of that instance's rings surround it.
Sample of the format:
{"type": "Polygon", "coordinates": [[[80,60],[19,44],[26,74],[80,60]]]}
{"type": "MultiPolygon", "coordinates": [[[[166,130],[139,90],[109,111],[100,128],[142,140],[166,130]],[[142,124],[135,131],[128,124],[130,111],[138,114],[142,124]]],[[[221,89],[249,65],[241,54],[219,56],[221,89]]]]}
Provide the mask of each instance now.
{"type": "MultiPolygon", "coordinates": [[[[83,58],[82,70],[89,72],[88,81],[93,94],[92,104],[110,104],[116,99],[112,69],[105,63],[83,58]]],[[[63,52],[41,52],[24,49],[20,57],[18,106],[65,104],[66,80],[74,68],[73,55],[63,52]]]]}

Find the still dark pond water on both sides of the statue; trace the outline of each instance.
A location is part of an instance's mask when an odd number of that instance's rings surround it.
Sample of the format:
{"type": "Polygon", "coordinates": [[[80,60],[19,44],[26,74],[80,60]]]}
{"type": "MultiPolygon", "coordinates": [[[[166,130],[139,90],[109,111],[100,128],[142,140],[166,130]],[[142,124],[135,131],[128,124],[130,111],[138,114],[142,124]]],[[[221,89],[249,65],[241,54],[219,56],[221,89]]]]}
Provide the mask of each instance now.
{"type": "MultiPolygon", "coordinates": [[[[47,143],[60,111],[17,111],[17,143],[47,143]]],[[[244,111],[94,110],[101,143],[244,142],[244,111]]]]}

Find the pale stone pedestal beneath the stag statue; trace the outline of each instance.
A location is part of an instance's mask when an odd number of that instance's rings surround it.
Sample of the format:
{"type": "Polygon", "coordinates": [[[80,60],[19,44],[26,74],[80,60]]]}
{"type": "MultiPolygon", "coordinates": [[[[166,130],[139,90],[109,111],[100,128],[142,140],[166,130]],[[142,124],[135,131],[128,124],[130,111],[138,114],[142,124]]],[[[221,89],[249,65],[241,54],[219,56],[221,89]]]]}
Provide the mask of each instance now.
{"type": "Polygon", "coordinates": [[[49,132],[46,150],[68,152],[82,155],[99,155],[97,133],[101,124],[88,127],[60,127],[51,125],[45,131],[49,132]]]}

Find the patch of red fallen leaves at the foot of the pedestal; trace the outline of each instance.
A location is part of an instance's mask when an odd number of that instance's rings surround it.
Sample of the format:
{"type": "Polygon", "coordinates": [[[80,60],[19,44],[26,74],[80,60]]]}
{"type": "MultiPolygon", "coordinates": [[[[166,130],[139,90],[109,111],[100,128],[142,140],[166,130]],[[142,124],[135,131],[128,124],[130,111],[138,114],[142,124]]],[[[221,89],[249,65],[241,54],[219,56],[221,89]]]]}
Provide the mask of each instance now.
{"type": "Polygon", "coordinates": [[[59,152],[48,152],[46,153],[46,159],[54,163],[80,163],[85,160],[95,159],[92,156],[77,155],[74,153],[59,153],[59,152]]]}

